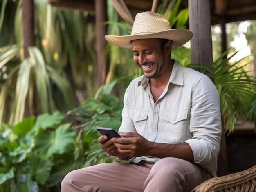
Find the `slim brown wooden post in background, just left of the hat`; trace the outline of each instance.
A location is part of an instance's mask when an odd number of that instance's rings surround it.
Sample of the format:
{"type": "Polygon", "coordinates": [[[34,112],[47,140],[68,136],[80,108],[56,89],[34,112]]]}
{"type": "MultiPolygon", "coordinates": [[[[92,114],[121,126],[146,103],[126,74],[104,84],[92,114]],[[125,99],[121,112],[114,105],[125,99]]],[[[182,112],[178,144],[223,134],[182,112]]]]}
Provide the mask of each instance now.
{"type": "Polygon", "coordinates": [[[104,22],[107,20],[106,0],[95,0],[95,24],[96,24],[96,46],[97,46],[97,86],[105,82],[108,73],[108,65],[103,55],[106,46],[104,36],[107,34],[107,27],[104,22]]]}

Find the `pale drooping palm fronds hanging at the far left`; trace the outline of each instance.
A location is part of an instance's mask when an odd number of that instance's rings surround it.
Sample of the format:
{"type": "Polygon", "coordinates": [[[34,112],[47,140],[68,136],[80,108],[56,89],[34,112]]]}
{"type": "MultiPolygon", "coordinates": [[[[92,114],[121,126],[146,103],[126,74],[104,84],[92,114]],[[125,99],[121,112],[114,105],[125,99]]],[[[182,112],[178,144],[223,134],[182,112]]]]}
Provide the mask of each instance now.
{"type": "Polygon", "coordinates": [[[42,53],[37,47],[29,47],[30,57],[16,60],[21,50],[20,46],[8,45],[0,48],[0,67],[10,65],[13,59],[16,66],[12,68],[0,93],[0,125],[21,121],[25,110],[33,114],[52,113],[54,110],[68,110],[72,104],[72,89],[65,76],[56,69],[47,66],[42,53]],[[61,95],[55,94],[60,92],[61,95]],[[15,93],[15,94],[13,94],[15,93]],[[14,103],[12,104],[12,95],[14,103]],[[61,104],[58,102],[61,101],[61,104]],[[11,103],[11,104],[9,104],[11,103]],[[9,104],[9,105],[8,105],[9,104]]]}

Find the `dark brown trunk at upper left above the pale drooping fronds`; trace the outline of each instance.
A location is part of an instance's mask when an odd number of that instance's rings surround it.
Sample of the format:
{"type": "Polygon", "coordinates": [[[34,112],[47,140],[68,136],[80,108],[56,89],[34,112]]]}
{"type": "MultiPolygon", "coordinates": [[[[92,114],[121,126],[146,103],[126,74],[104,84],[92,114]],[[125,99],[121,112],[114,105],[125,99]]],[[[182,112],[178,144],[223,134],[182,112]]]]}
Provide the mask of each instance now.
{"type": "Polygon", "coordinates": [[[22,0],[22,20],[24,38],[24,57],[29,57],[27,48],[35,46],[34,35],[34,2],[33,0],[22,0]]]}

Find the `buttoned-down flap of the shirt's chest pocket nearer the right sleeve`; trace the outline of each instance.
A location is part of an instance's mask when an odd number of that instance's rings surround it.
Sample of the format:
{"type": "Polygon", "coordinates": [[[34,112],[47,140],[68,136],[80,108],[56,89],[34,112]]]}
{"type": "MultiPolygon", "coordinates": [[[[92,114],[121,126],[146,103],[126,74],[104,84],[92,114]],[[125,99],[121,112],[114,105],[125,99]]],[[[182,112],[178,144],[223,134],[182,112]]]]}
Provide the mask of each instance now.
{"type": "Polygon", "coordinates": [[[179,121],[187,119],[188,109],[182,110],[166,110],[164,113],[164,120],[176,124],[179,121]]]}

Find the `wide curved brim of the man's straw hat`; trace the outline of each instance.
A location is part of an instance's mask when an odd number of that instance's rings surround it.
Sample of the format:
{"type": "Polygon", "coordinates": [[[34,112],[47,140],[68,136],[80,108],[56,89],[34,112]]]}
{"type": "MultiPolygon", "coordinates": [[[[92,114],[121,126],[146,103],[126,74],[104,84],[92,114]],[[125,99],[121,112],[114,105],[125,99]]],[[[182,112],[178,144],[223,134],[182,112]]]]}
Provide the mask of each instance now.
{"type": "Polygon", "coordinates": [[[113,45],[132,49],[132,40],[137,39],[169,39],[172,40],[172,47],[182,46],[193,37],[193,33],[186,29],[170,29],[159,33],[141,35],[105,35],[105,39],[113,45]]]}

